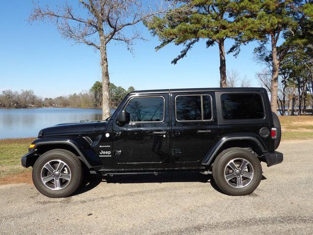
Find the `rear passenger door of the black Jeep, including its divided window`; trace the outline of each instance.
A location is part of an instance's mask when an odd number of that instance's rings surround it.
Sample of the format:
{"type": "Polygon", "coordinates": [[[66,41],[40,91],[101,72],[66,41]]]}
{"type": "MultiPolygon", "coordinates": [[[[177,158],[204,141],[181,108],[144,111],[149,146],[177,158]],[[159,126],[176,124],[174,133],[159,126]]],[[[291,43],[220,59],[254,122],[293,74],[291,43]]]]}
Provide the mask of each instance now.
{"type": "Polygon", "coordinates": [[[177,164],[198,165],[217,138],[214,107],[212,92],[172,94],[172,152],[177,164]]]}

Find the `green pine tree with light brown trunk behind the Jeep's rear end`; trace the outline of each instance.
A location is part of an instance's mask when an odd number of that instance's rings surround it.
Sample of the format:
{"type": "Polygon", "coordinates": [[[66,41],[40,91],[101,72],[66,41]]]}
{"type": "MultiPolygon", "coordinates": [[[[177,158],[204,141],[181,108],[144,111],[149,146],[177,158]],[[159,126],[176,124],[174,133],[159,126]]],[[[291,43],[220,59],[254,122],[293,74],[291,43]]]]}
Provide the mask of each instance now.
{"type": "Polygon", "coordinates": [[[260,46],[255,49],[261,51],[270,42],[271,47],[271,110],[277,112],[278,74],[279,66],[288,52],[289,44],[293,41],[294,31],[298,27],[295,17],[302,1],[294,0],[237,0],[233,11],[240,33],[237,42],[230,51],[239,51],[241,44],[257,40],[260,46]],[[291,33],[291,34],[290,34],[291,33]],[[278,47],[278,41],[289,40],[278,47]]]}

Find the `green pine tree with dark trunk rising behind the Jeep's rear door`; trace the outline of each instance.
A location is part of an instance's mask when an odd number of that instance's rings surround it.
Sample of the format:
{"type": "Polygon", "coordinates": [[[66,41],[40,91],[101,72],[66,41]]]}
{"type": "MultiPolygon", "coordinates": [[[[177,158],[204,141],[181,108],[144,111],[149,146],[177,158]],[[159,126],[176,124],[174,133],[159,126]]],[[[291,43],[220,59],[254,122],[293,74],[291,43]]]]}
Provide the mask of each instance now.
{"type": "MultiPolygon", "coordinates": [[[[173,0],[174,1],[174,0],[173,0]]],[[[179,59],[201,39],[206,40],[206,46],[218,44],[220,52],[221,87],[226,85],[226,59],[224,42],[227,38],[237,35],[236,25],[229,13],[232,11],[231,0],[180,0],[179,5],[165,15],[154,16],[145,24],[158,36],[161,44],[156,50],[170,44],[184,45],[184,49],[172,61],[179,59]]]]}

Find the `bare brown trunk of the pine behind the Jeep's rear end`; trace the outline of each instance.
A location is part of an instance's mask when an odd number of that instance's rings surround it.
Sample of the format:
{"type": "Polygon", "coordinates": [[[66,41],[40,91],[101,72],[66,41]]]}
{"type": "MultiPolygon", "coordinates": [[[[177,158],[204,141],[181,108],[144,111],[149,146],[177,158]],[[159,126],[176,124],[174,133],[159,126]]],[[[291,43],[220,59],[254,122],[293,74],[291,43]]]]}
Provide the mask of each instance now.
{"type": "Polygon", "coordinates": [[[276,114],[277,112],[277,95],[278,95],[278,71],[279,71],[279,61],[277,59],[277,48],[275,35],[271,35],[271,47],[272,47],[272,78],[270,85],[270,107],[272,112],[276,114]]]}

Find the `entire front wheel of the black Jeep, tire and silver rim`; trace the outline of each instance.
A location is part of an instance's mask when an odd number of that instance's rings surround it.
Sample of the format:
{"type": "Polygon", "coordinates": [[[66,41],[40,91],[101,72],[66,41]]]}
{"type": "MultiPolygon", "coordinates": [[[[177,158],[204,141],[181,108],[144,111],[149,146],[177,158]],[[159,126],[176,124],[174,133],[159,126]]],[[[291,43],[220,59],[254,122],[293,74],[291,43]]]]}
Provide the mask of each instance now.
{"type": "Polygon", "coordinates": [[[81,185],[83,169],[75,154],[65,149],[53,149],[35,162],[32,178],[37,190],[45,196],[67,197],[81,185]]]}

